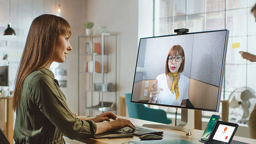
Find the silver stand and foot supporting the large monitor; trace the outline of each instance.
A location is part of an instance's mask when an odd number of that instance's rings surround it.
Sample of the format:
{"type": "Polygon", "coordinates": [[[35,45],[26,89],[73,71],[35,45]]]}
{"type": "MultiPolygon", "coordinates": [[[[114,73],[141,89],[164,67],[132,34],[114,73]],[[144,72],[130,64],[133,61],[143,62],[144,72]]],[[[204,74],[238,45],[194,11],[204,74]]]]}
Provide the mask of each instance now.
{"type": "Polygon", "coordinates": [[[186,135],[191,135],[191,130],[185,128],[184,126],[188,124],[188,109],[181,108],[181,122],[179,125],[165,125],[165,124],[143,124],[142,126],[149,128],[163,128],[163,129],[173,129],[178,131],[186,132],[186,135]]]}

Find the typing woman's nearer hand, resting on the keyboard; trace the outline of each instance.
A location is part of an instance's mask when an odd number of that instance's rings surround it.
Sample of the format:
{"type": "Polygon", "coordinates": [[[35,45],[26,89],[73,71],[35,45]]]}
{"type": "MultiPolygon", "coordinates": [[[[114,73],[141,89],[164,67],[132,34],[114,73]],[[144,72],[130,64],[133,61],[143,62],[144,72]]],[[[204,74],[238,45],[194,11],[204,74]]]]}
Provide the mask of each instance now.
{"type": "Polygon", "coordinates": [[[108,124],[110,125],[110,131],[116,131],[126,126],[135,129],[135,126],[129,120],[122,118],[108,122],[108,124]]]}

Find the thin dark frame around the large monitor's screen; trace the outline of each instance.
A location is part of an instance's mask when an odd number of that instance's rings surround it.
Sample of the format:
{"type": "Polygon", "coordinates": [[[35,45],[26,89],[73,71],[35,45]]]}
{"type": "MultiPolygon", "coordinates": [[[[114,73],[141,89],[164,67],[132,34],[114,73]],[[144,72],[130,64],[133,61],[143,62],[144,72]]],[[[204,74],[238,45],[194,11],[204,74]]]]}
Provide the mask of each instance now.
{"type": "MultiPolygon", "coordinates": [[[[172,106],[172,105],[164,105],[164,104],[155,104],[155,103],[146,103],[146,102],[139,102],[139,101],[132,101],[132,95],[131,95],[131,100],[130,102],[132,103],[139,103],[139,104],[148,104],[148,105],[156,105],[156,106],[163,106],[163,107],[172,107],[172,108],[184,108],[184,109],[195,109],[195,110],[204,110],[204,111],[213,111],[213,112],[219,112],[220,109],[220,98],[221,98],[221,91],[222,91],[222,82],[223,82],[223,77],[224,77],[224,71],[225,71],[225,63],[226,63],[226,54],[227,54],[227,47],[228,47],[228,35],[229,35],[229,30],[228,29],[222,29],[222,30],[212,30],[212,31],[202,31],[202,32],[193,32],[193,33],[184,33],[182,35],[190,35],[190,34],[199,34],[199,33],[210,33],[210,32],[219,32],[219,31],[226,31],[226,36],[225,36],[225,43],[224,43],[224,52],[223,52],[223,59],[222,59],[222,67],[221,67],[221,73],[220,73],[220,84],[219,87],[219,92],[218,92],[218,99],[217,99],[217,107],[216,109],[204,109],[204,108],[190,108],[190,107],[181,107],[181,106],[172,106]]],[[[148,38],[157,38],[157,37],[166,37],[166,36],[180,36],[180,35],[164,35],[164,36],[152,36],[152,37],[143,37],[141,39],[148,39],[148,38]]],[[[133,88],[134,88],[134,81],[135,81],[135,75],[136,75],[136,69],[137,69],[137,64],[138,64],[138,56],[139,56],[139,49],[140,49],[140,42],[138,46],[138,54],[137,54],[137,60],[136,60],[136,67],[135,67],[135,72],[134,72],[134,78],[133,78],[133,84],[132,84],[132,93],[133,93],[133,88]]]]}

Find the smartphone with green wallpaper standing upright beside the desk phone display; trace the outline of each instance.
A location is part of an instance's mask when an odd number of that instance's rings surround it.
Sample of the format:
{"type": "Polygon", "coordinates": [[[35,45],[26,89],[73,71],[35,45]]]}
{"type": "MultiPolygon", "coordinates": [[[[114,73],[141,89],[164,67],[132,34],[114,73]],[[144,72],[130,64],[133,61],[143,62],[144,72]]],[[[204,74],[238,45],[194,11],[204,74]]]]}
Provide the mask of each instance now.
{"type": "Polygon", "coordinates": [[[203,134],[201,140],[208,141],[208,139],[211,136],[212,130],[213,130],[213,128],[214,128],[214,126],[215,126],[215,124],[217,123],[218,120],[219,120],[219,116],[212,115],[208,125],[206,126],[206,129],[204,131],[204,134],[203,134]]]}

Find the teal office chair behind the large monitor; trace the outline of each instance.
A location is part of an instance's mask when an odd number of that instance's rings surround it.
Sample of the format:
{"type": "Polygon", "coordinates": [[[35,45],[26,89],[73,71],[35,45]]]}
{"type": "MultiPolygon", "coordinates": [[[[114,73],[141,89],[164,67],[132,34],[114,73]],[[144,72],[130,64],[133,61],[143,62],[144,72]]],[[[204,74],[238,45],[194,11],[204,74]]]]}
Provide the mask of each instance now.
{"type": "Polygon", "coordinates": [[[162,109],[145,107],[143,104],[131,103],[132,93],[125,93],[125,102],[128,108],[129,117],[162,123],[171,124],[172,120],[167,118],[166,112],[162,109]]]}

